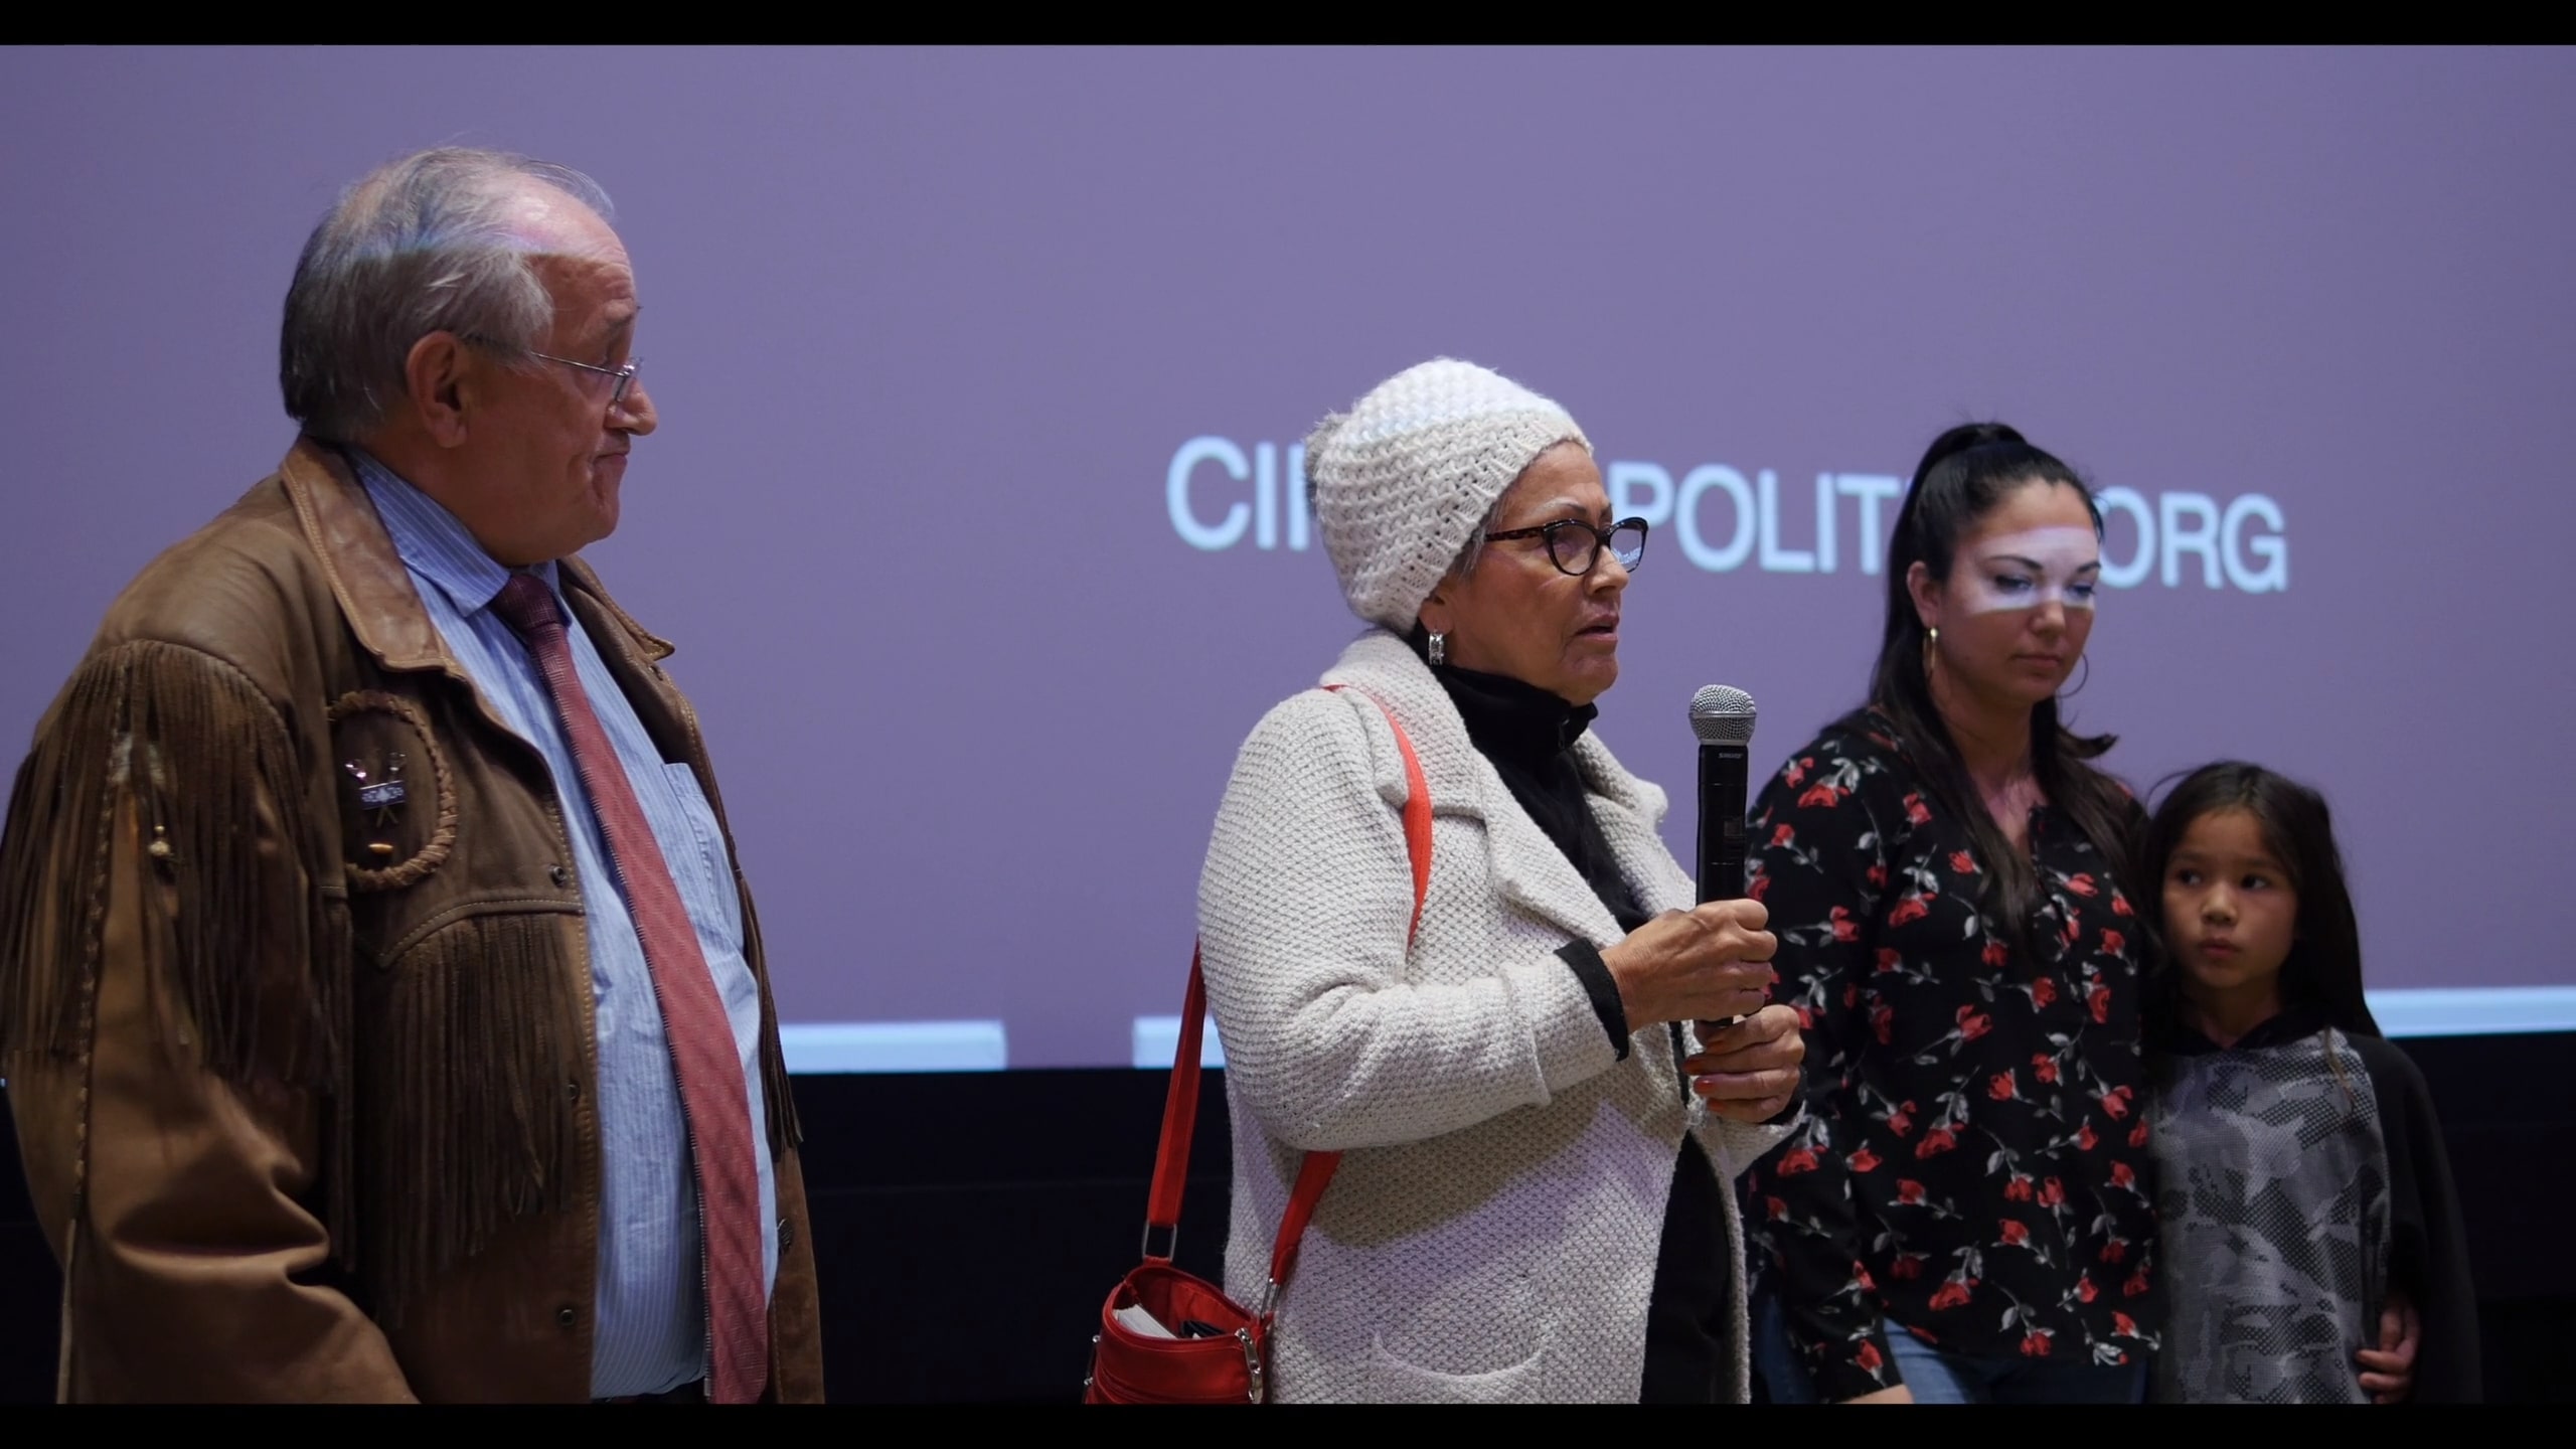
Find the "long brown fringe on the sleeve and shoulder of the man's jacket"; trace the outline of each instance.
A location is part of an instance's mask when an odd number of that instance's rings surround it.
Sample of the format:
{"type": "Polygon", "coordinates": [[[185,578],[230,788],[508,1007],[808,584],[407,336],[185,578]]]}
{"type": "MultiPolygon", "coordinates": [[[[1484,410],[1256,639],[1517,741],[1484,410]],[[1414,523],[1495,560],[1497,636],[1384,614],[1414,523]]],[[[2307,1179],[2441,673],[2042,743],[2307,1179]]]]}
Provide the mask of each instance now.
{"type": "Polygon", "coordinates": [[[330,1093],[348,1042],[348,913],[307,817],[286,719],[214,655],[134,639],[82,663],[18,768],[0,835],[0,1057],[77,1057],[118,799],[134,799],[165,931],[144,962],[209,1073],[330,1093]],[[301,877],[260,853],[278,830],[301,877]]]}

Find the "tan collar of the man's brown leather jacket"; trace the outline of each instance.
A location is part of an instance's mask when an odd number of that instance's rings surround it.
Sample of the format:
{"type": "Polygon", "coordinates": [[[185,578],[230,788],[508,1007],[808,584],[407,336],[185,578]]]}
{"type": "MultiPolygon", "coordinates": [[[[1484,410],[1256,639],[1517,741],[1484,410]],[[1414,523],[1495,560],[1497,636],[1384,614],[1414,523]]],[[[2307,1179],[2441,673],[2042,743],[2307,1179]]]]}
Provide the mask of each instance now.
{"type": "MultiPolygon", "coordinates": [[[[376,518],[376,505],[366,498],[366,487],[340,449],[317,438],[296,438],[286,462],[278,464],[278,482],[286,485],[304,539],[322,562],[322,578],[330,580],[340,616],[348,619],[358,645],[389,670],[446,670],[464,678],[446,639],[438,637],[438,624],[420,606],[420,593],[412,588],[410,570],[402,567],[394,536],[376,518]]],[[[629,619],[580,557],[559,559],[556,580],[567,596],[587,596],[598,614],[631,634],[647,660],[670,655],[670,642],[629,619]]]]}

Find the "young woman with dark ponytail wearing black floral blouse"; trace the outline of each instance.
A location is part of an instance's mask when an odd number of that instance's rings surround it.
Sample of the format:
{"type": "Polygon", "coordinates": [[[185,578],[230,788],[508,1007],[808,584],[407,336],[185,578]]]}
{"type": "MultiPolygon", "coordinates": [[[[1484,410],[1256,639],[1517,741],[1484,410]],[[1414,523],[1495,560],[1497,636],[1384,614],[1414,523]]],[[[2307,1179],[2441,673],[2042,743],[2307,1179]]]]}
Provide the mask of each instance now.
{"type": "MultiPolygon", "coordinates": [[[[1896,516],[1870,701],[1754,810],[1749,887],[1806,1026],[1806,1122],[1752,1173],[1772,1397],[2136,1403],[2156,1217],[2141,1101],[2143,825],[2058,719],[2102,518],[1999,423],[1896,516]],[[1765,1315],[1767,1318],[1767,1315],[1765,1315]]],[[[1759,1346],[1759,1338],[1757,1338],[1759,1346]]]]}

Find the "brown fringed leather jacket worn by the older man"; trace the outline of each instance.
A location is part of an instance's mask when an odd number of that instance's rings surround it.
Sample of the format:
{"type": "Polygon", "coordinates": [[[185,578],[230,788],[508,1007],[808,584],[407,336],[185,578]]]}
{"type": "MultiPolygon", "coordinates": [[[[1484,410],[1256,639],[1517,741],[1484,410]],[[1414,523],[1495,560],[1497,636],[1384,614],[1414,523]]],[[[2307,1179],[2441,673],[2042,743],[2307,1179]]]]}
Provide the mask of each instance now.
{"type": "MultiPolygon", "coordinates": [[[[577,559],[667,761],[698,717],[577,559]]],[[[726,838],[732,853],[732,838],[726,838]]],[[[737,887],[739,887],[737,871],[737,887]]],[[[822,1397],[760,926],[770,1392],[822,1397]]],[[[340,456],[299,441],[108,608],[0,835],[0,1075],[67,1400],[585,1400],[600,1222],[572,846],[340,456]],[[404,804],[343,761],[404,758],[404,804]]]]}

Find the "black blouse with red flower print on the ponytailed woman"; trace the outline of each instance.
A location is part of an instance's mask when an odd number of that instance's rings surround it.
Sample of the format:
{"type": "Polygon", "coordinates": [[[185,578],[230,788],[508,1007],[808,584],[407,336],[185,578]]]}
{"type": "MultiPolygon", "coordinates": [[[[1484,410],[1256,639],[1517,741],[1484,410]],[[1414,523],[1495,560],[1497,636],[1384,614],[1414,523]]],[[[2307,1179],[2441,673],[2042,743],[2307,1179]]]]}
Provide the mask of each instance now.
{"type": "Polygon", "coordinates": [[[1899,1382],[1888,1325],[2125,1364],[2156,1330],[2136,905],[2035,810],[2032,972],[1976,910],[1965,822],[1873,724],[1826,730],[1754,807],[1749,887],[1806,1026],[1806,1124],[1747,1173],[1790,1341],[1826,1400],[1899,1382]]]}

